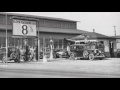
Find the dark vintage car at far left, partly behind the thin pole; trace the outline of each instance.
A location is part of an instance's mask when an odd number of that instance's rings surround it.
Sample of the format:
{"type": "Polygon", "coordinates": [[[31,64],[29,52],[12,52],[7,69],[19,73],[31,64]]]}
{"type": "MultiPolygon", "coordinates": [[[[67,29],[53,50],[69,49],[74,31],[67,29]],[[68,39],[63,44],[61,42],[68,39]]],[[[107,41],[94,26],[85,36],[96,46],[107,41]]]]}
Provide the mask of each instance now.
{"type": "MultiPolygon", "coordinates": [[[[0,60],[6,55],[6,48],[0,48],[0,60]]],[[[15,62],[20,62],[20,52],[16,47],[8,47],[8,60],[14,60],[15,62]]]]}

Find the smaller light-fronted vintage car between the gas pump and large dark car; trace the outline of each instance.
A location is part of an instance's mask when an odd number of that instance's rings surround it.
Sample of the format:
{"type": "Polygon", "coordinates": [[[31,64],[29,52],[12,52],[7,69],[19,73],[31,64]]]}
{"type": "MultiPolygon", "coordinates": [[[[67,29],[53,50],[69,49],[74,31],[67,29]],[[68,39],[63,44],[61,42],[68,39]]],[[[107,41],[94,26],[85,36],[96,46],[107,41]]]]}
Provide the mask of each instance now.
{"type": "Polygon", "coordinates": [[[53,52],[54,58],[69,58],[69,54],[67,50],[54,50],[53,52]]]}

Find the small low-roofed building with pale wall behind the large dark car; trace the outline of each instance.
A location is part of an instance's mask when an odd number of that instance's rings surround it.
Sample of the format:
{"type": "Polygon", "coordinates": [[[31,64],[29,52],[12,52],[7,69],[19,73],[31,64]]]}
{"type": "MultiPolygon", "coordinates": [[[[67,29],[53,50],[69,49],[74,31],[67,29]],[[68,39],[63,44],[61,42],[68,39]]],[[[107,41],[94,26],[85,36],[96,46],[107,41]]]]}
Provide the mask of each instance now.
{"type": "MultiPolygon", "coordinates": [[[[116,56],[116,42],[115,38],[109,37],[106,35],[102,35],[99,33],[94,32],[88,32],[86,33],[88,36],[88,40],[97,40],[101,43],[100,49],[105,52],[107,57],[115,57],[116,56]]],[[[71,40],[83,40],[82,35],[76,36],[71,38],[71,40]]]]}

